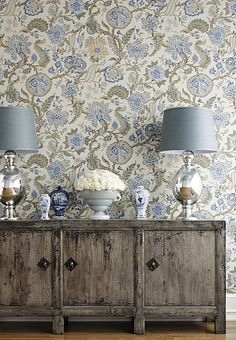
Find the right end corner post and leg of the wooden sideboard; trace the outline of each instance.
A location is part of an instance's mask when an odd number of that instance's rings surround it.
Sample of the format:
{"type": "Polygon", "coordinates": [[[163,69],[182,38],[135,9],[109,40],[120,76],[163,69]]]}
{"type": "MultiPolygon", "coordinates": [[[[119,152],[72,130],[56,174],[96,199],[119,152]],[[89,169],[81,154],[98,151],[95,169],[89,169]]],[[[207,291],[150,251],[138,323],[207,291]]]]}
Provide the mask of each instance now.
{"type": "Polygon", "coordinates": [[[226,332],[225,226],[216,232],[216,306],[215,333],[226,332]]]}

